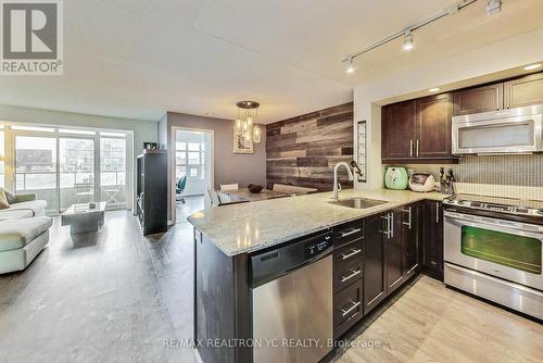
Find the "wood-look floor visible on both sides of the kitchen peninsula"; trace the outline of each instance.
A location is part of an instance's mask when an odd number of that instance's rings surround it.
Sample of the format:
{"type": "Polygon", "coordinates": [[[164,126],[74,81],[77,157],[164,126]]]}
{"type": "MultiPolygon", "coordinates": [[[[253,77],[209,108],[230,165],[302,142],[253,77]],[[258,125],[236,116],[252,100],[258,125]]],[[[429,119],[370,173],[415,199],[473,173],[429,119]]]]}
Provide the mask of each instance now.
{"type": "MultiPolygon", "coordinates": [[[[143,238],[126,211],[72,241],[56,220],[24,273],[0,276],[0,362],[194,362],[192,228],[143,238]]],[[[543,327],[421,277],[337,362],[541,362],[543,327]]],[[[361,329],[362,331],[363,329],[361,329]]]]}

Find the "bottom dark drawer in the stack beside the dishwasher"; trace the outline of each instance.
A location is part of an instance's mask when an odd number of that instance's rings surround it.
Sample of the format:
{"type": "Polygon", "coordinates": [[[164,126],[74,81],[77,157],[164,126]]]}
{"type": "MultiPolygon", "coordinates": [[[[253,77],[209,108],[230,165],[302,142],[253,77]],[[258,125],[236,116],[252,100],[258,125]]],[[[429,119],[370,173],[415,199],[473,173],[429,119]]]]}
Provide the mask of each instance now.
{"type": "Polygon", "coordinates": [[[358,280],[333,297],[333,337],[340,338],[363,316],[363,284],[358,280]]]}

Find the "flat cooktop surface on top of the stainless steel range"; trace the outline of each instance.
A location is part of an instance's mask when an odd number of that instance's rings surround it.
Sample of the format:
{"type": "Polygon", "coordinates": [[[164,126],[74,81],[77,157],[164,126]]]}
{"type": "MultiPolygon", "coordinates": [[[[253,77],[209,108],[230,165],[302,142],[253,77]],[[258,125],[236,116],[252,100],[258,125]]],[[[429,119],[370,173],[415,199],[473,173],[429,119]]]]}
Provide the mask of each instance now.
{"type": "Polygon", "coordinates": [[[477,195],[455,195],[445,199],[443,204],[543,220],[543,202],[541,201],[477,195]]]}

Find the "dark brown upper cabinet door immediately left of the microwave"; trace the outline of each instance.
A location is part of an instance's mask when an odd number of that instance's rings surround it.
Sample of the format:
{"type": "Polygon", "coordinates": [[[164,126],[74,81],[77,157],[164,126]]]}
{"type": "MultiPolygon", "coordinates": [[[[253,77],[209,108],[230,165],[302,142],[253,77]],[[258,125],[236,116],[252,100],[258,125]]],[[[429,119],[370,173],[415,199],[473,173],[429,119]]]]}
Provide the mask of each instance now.
{"type": "Polygon", "coordinates": [[[450,159],[452,93],[437,95],[417,100],[416,157],[421,159],[450,159]]]}

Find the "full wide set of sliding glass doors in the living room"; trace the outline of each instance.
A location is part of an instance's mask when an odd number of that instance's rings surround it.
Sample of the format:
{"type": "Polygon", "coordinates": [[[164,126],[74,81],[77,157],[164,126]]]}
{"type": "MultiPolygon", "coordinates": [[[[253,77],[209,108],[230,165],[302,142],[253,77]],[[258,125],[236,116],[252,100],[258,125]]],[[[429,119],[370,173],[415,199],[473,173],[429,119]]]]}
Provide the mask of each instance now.
{"type": "MultiPolygon", "coordinates": [[[[0,125],[1,126],[1,125],[0,125]]],[[[131,205],[131,139],[126,133],[46,126],[0,127],[0,186],[36,193],[56,214],[72,204],[131,205]],[[5,151],[5,152],[4,152],[5,151]],[[5,155],[4,155],[5,154],[5,155]],[[5,171],[4,171],[5,163],[5,171]]]]}

